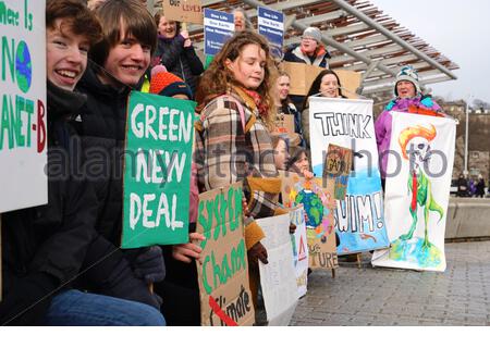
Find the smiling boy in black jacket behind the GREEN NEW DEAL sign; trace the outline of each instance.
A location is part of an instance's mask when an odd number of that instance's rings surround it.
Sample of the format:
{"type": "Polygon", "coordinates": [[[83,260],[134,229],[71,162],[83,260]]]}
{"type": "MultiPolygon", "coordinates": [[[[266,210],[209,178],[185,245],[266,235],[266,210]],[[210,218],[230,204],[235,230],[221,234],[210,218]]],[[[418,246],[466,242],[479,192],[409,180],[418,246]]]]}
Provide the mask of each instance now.
{"type": "MultiPolygon", "coordinates": [[[[139,0],[107,0],[96,14],[103,39],[90,50],[93,61],[77,86],[87,103],[73,124],[83,139],[85,173],[96,190],[96,229],[115,247],[122,233],[127,98],[143,83],[157,27],[139,0]]],[[[145,282],[163,279],[159,247],[131,249],[124,256],[145,282]]]]}

